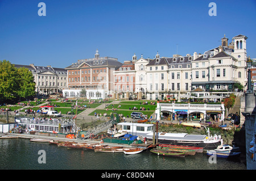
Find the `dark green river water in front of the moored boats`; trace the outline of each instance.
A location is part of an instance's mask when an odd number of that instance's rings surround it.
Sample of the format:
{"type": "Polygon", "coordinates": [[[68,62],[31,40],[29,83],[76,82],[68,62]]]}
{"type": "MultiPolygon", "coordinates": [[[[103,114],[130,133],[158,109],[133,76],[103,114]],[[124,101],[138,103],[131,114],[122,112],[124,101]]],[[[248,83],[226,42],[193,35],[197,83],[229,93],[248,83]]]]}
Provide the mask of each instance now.
{"type": "Polygon", "coordinates": [[[0,139],[1,170],[237,170],[246,169],[239,158],[217,158],[209,163],[205,153],[185,158],[163,157],[149,150],[135,155],[101,153],[86,149],[67,149],[28,139],[0,139]],[[46,163],[39,163],[44,150],[46,163]]]}

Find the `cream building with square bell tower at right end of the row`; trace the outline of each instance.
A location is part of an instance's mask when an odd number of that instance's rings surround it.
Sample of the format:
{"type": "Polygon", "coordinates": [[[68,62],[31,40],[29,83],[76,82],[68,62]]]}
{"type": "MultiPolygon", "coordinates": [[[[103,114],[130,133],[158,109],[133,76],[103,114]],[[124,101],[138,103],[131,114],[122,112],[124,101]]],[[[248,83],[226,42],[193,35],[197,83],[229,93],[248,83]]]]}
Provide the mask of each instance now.
{"type": "Polygon", "coordinates": [[[234,83],[245,86],[246,74],[246,36],[223,37],[220,47],[197,55],[192,61],[192,89],[232,91],[234,83]],[[234,43],[236,44],[234,46],[234,43]]]}

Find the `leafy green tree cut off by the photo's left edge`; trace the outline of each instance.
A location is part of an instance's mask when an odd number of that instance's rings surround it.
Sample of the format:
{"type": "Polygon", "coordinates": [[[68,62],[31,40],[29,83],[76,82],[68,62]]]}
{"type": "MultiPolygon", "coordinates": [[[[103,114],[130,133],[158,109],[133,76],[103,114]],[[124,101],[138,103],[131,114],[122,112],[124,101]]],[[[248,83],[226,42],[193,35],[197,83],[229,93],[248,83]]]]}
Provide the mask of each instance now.
{"type": "Polygon", "coordinates": [[[0,61],[0,102],[16,98],[19,90],[17,69],[9,61],[0,61]]]}

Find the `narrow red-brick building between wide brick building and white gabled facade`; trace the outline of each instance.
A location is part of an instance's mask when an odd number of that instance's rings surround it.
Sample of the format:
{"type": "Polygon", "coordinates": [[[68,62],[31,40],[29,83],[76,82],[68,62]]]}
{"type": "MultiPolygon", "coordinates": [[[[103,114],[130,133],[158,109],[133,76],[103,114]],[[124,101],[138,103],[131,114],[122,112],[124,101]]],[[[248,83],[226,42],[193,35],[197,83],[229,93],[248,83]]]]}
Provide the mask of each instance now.
{"type": "Polygon", "coordinates": [[[133,60],[124,61],[123,65],[114,71],[114,98],[134,98],[136,60],[137,56],[134,54],[133,60]]]}

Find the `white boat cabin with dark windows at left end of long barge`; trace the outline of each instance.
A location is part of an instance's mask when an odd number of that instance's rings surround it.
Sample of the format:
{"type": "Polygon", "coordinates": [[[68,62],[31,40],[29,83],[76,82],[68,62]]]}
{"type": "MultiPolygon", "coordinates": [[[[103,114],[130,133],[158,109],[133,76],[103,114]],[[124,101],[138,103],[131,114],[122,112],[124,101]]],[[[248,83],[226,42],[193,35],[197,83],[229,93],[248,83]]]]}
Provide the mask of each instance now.
{"type": "Polygon", "coordinates": [[[154,124],[143,124],[143,123],[118,123],[117,125],[122,126],[122,131],[126,131],[129,134],[144,136],[153,131],[154,124]]]}

